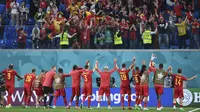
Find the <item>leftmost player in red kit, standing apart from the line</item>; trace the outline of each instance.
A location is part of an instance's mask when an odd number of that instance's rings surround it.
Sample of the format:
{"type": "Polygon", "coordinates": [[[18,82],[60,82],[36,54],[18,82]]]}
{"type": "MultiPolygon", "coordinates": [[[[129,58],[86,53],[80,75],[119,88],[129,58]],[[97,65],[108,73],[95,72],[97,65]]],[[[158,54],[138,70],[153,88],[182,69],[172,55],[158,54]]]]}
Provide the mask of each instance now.
{"type": "Polygon", "coordinates": [[[8,69],[5,69],[2,71],[5,78],[6,91],[8,92],[6,108],[12,107],[11,96],[14,93],[14,89],[15,89],[15,76],[18,77],[18,80],[23,79],[22,77],[18,75],[18,73],[13,68],[14,68],[13,64],[10,64],[8,66],[8,69]]]}

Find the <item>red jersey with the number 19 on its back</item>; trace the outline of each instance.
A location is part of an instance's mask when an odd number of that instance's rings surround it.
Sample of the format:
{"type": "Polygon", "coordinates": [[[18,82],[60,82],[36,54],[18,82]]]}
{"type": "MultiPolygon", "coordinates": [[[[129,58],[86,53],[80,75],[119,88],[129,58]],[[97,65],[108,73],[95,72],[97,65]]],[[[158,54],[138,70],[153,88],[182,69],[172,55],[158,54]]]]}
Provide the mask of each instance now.
{"type": "Polygon", "coordinates": [[[130,86],[130,81],[129,81],[129,75],[128,73],[130,72],[130,69],[118,69],[117,72],[120,75],[121,79],[121,86],[120,87],[129,87],[130,86]]]}

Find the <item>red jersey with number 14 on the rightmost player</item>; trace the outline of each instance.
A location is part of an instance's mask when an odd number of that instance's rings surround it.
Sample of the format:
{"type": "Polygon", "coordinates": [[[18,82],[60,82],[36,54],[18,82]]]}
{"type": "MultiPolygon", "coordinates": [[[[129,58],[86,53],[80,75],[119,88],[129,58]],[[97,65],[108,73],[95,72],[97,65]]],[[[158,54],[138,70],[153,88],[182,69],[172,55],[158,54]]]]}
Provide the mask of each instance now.
{"type": "Polygon", "coordinates": [[[183,81],[187,81],[187,78],[178,74],[172,76],[174,77],[174,88],[183,88],[183,81]]]}

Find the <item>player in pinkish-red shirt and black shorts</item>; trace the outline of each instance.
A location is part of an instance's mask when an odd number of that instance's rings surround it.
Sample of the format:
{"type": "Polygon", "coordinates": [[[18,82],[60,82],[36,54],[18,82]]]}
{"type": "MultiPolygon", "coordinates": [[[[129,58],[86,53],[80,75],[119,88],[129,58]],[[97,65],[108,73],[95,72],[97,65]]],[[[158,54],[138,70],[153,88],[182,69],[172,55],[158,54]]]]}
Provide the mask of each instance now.
{"type": "Polygon", "coordinates": [[[52,69],[45,74],[44,83],[43,83],[45,108],[47,108],[46,101],[47,101],[48,94],[50,94],[48,107],[51,108],[51,103],[53,101],[53,92],[54,92],[52,84],[53,84],[55,75],[56,75],[56,66],[52,66],[52,69]]]}

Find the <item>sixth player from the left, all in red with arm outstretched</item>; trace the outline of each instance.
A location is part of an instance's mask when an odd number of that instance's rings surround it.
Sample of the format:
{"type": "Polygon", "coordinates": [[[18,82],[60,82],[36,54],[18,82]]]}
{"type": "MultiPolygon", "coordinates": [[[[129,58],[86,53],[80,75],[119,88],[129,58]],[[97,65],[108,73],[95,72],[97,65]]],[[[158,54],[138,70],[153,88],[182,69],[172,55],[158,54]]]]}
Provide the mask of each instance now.
{"type": "MultiPolygon", "coordinates": [[[[86,64],[89,62],[87,61],[86,64]]],[[[76,109],[80,109],[78,107],[79,103],[79,97],[80,97],[80,89],[81,89],[81,74],[83,73],[83,69],[79,68],[77,65],[73,66],[73,70],[70,72],[70,75],[72,77],[72,96],[70,98],[69,105],[67,108],[69,109],[71,107],[72,101],[74,97],[76,96],[76,109]]]]}

